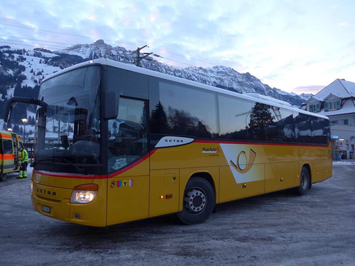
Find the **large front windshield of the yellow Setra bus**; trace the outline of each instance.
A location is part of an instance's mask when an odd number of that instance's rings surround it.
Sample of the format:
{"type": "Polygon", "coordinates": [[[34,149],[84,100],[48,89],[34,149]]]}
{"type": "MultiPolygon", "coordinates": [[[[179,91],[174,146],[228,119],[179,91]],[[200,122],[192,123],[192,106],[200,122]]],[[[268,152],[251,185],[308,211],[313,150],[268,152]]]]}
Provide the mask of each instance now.
{"type": "Polygon", "coordinates": [[[35,168],[84,173],[85,165],[101,164],[100,67],[80,68],[43,82],[39,99],[48,107],[37,109],[35,168]]]}

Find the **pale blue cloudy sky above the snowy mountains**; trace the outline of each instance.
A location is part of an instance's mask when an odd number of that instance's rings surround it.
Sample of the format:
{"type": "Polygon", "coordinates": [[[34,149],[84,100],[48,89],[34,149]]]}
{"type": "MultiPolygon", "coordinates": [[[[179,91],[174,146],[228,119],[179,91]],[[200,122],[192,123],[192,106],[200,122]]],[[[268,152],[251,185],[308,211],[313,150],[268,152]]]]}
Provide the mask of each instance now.
{"type": "Polygon", "coordinates": [[[2,0],[0,6],[0,45],[12,48],[56,50],[104,39],[127,50],[148,45],[143,52],[177,67],[249,72],[288,92],[315,94],[337,78],[355,82],[354,0],[2,0]]]}

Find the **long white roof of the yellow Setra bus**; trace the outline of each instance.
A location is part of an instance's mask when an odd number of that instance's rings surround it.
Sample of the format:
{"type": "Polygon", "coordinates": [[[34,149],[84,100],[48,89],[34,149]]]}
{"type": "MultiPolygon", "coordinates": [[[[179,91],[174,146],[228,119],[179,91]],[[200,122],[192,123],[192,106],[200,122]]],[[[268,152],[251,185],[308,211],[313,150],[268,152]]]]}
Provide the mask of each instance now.
{"type": "Polygon", "coordinates": [[[261,95],[261,94],[257,94],[257,93],[240,94],[240,93],[236,93],[236,92],[231,92],[229,90],[220,89],[220,88],[217,88],[217,87],[213,87],[211,85],[206,85],[206,84],[203,84],[203,83],[190,81],[189,79],[184,79],[184,78],[171,76],[171,75],[168,75],[168,74],[160,73],[160,72],[149,70],[149,69],[146,69],[146,68],[137,67],[137,66],[135,66],[133,64],[130,64],[130,63],[117,62],[117,61],[114,61],[114,60],[111,60],[111,59],[106,59],[106,58],[94,59],[94,60],[91,60],[91,61],[86,61],[86,62],[83,62],[83,63],[79,63],[77,65],[73,65],[73,66],[64,68],[64,69],[62,69],[62,70],[60,70],[58,72],[55,72],[55,73],[49,75],[46,78],[44,78],[43,82],[47,81],[50,78],[59,76],[60,74],[69,72],[71,70],[75,70],[77,68],[81,68],[81,67],[85,67],[85,66],[89,66],[89,65],[94,65],[94,64],[113,66],[113,67],[121,68],[121,69],[128,70],[128,71],[133,71],[133,72],[137,72],[137,73],[141,73],[141,74],[146,74],[148,76],[163,78],[163,79],[167,79],[167,80],[170,80],[170,81],[175,81],[175,82],[191,85],[191,86],[198,87],[198,88],[212,90],[214,92],[219,92],[219,93],[228,94],[228,95],[231,95],[231,96],[236,96],[236,97],[239,97],[239,98],[242,98],[242,99],[257,101],[257,102],[260,102],[260,103],[263,103],[263,104],[268,104],[268,105],[272,105],[272,106],[276,106],[276,107],[281,107],[281,108],[284,108],[284,109],[288,109],[290,111],[296,111],[296,112],[305,113],[305,114],[311,115],[311,116],[316,116],[316,117],[329,119],[327,116],[322,116],[322,115],[318,115],[316,113],[311,113],[311,112],[307,112],[307,111],[304,111],[304,110],[300,110],[300,109],[292,107],[288,102],[281,101],[281,100],[278,100],[278,99],[274,99],[274,98],[271,98],[271,97],[268,97],[268,96],[264,96],[264,95],[261,95]]]}

